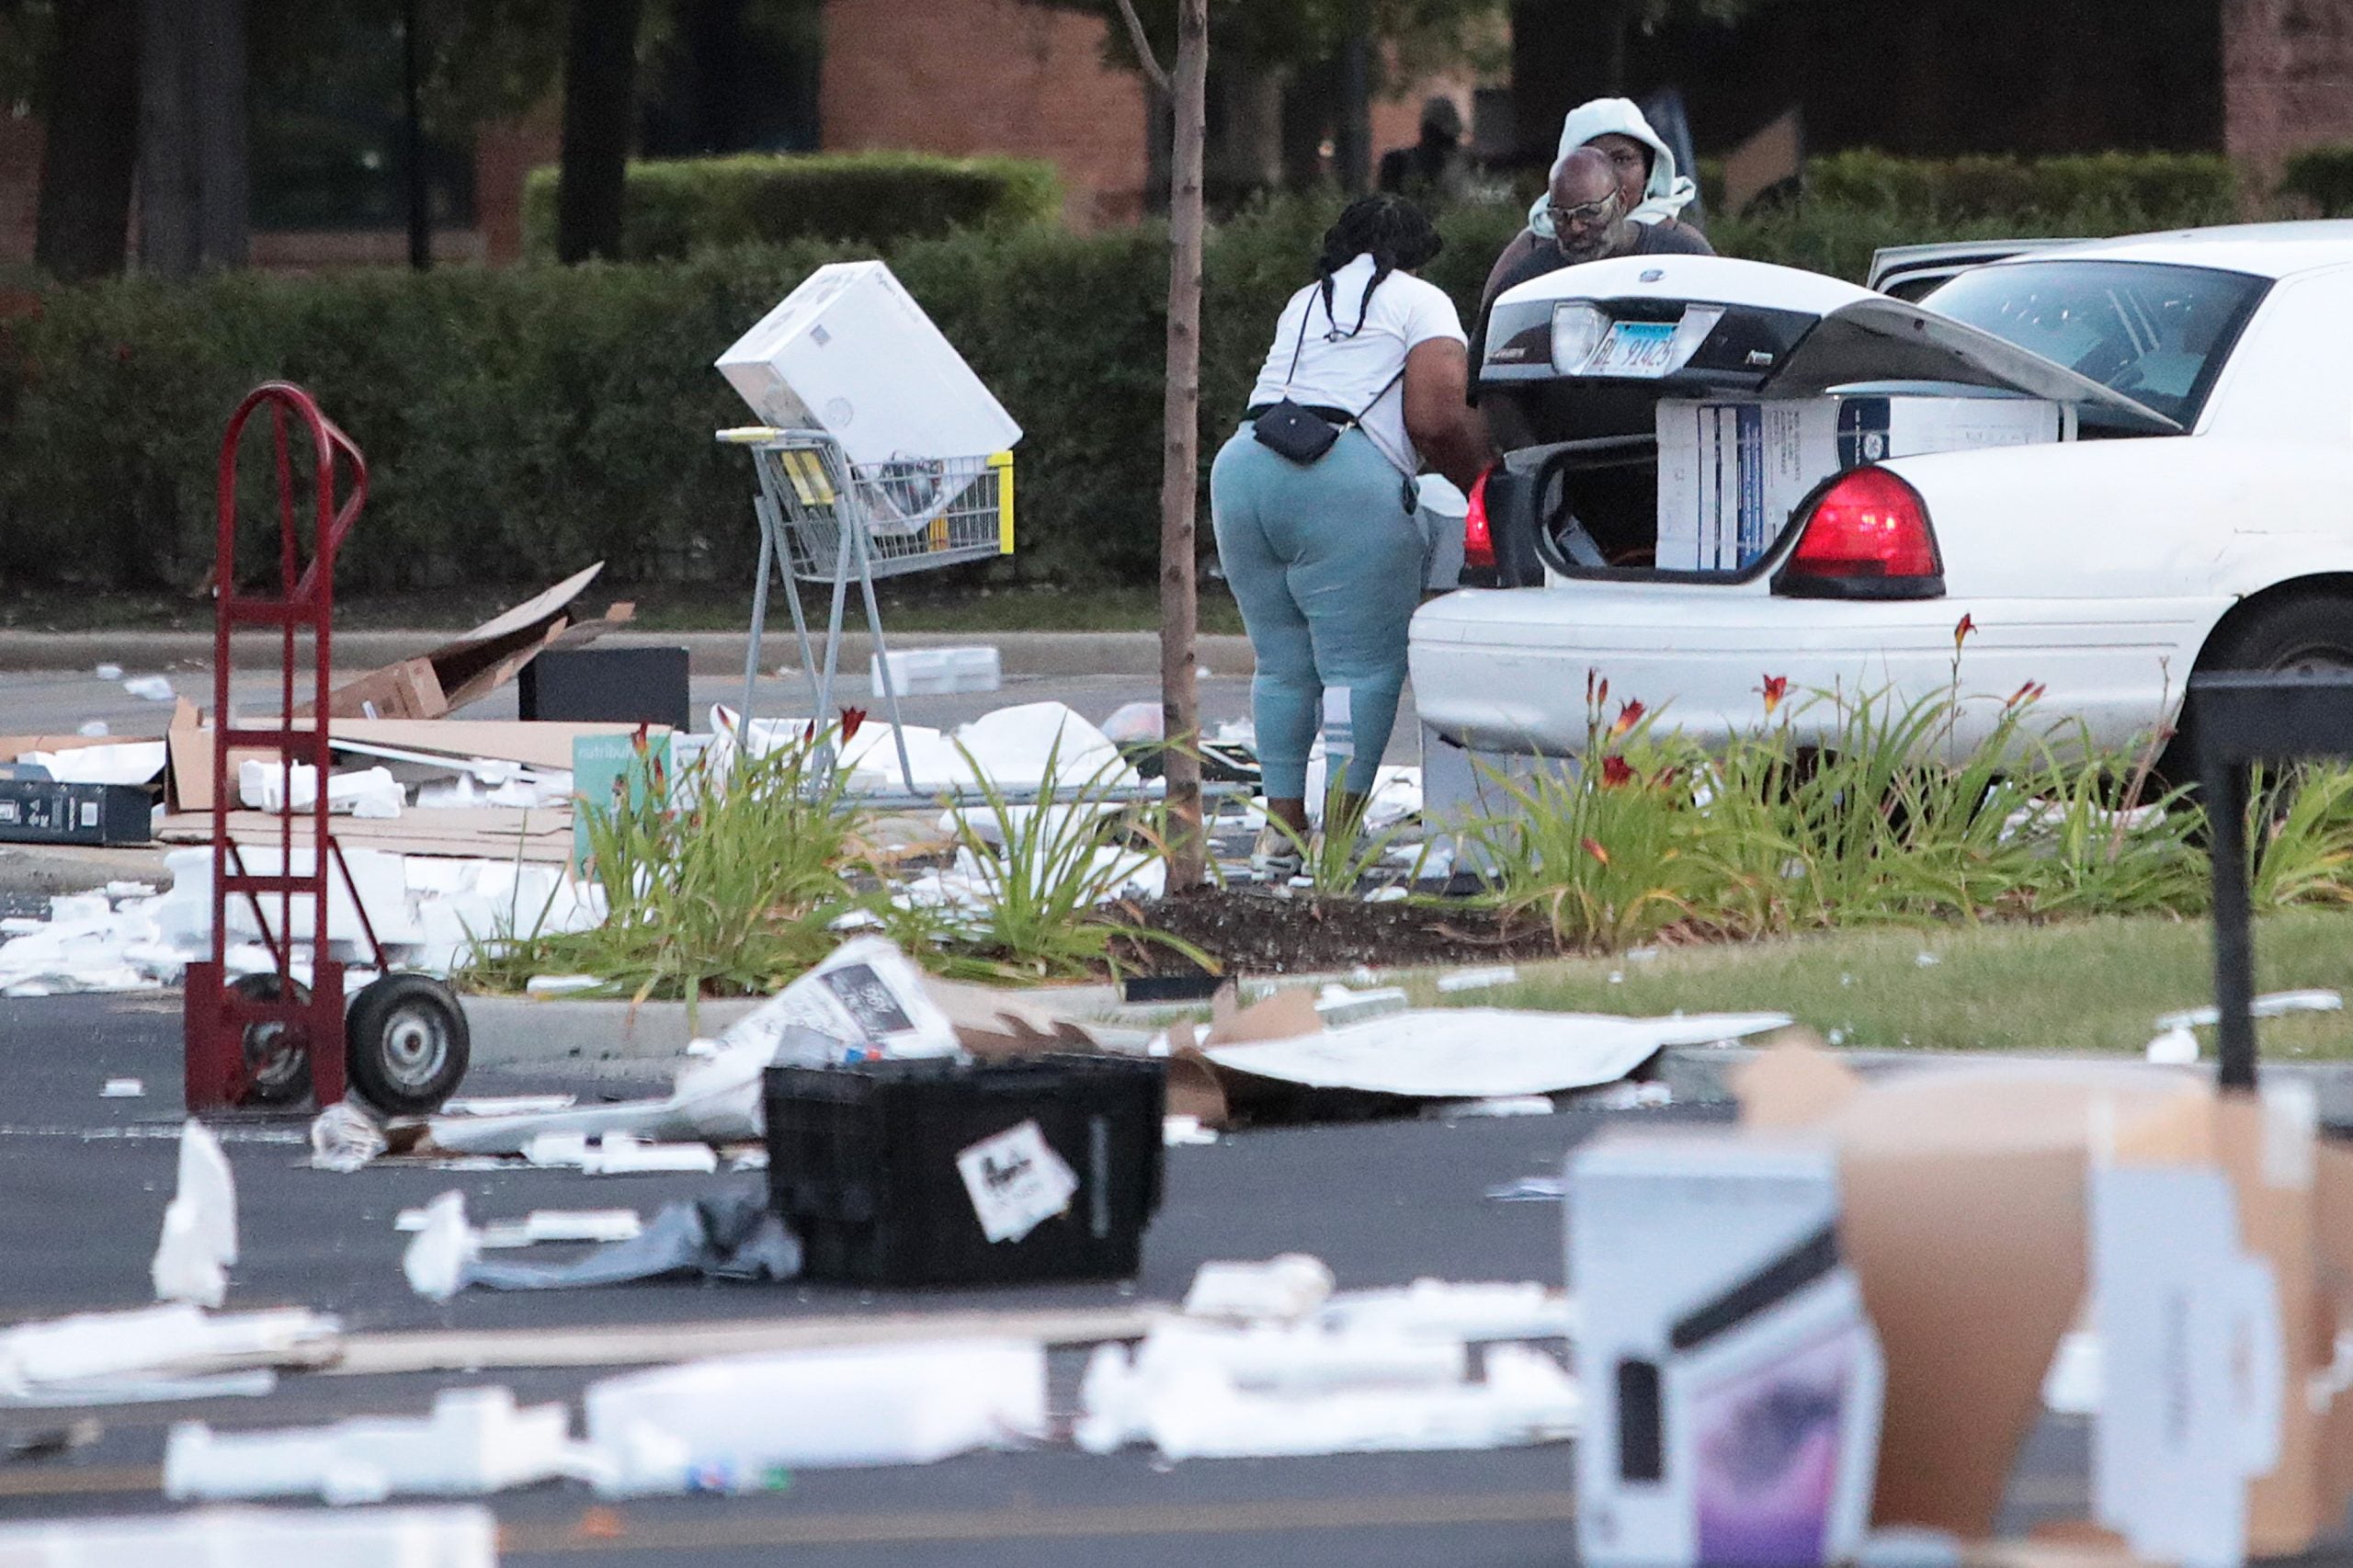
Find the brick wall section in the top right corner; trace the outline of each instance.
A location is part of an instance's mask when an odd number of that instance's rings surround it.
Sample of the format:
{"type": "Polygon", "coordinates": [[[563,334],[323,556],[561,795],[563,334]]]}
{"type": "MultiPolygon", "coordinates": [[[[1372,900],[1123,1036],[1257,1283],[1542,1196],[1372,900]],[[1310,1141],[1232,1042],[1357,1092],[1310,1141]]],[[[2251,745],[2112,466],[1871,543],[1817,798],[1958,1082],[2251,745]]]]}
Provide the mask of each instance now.
{"type": "Polygon", "coordinates": [[[2353,141],[2353,5],[2224,0],[2224,146],[2271,186],[2287,153],[2353,141]]]}

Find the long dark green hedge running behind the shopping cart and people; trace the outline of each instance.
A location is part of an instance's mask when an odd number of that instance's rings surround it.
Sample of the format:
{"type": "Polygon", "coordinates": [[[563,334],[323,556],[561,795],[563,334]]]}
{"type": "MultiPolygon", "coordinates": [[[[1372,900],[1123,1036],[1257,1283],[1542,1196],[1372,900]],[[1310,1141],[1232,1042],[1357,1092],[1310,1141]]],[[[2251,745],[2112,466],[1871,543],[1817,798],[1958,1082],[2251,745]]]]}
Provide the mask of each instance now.
{"type": "MultiPolygon", "coordinates": [[[[1337,200],[1285,200],[1209,238],[1202,461],[1233,428],[1282,299],[1337,200]]],[[[1713,224],[1727,254],[1859,278],[1878,245],[2087,233],[2097,212],[1920,221],[1887,207],[1713,224]]],[[[1518,231],[1464,207],[1426,275],[1468,320],[1518,231]]],[[[311,386],[372,464],[353,589],[748,584],[751,471],[711,431],[744,405],[711,360],[812,266],[866,247],[739,247],[675,264],[231,273],[49,287],[0,315],[0,579],[186,586],[212,563],[214,447],[256,381],[311,386]]],[[[1028,431],[1019,553],[998,574],[1151,582],[1158,560],[1165,231],[979,228],[892,268],[1028,431]]],[[[249,478],[266,478],[249,464],[249,478]]],[[[1207,492],[1205,492],[1207,504],[1207,492]]]]}

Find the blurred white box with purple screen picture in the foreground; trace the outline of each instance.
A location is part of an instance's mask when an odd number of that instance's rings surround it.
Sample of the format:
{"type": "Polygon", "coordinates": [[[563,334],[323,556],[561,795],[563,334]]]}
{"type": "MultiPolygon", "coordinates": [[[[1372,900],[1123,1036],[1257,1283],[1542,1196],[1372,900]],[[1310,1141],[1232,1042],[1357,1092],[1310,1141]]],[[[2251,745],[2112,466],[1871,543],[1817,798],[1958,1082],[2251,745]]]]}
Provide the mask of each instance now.
{"type": "Polygon", "coordinates": [[[1569,1156],[1567,1198],[1579,1561],[1852,1559],[1885,1366],[1828,1144],[1605,1135],[1569,1156]]]}

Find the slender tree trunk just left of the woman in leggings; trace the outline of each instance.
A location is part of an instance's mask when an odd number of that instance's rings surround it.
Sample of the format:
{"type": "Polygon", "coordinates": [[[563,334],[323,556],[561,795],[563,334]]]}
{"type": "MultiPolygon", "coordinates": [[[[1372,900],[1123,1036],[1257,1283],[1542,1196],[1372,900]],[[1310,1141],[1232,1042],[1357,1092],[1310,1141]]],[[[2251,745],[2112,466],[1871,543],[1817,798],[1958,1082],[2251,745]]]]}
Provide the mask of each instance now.
{"type": "Polygon", "coordinates": [[[1169,892],[1207,869],[1200,822],[1200,687],[1193,513],[1200,490],[1200,165],[1209,99],[1209,0],[1176,5],[1176,151],[1169,158],[1169,384],[1160,471],[1160,723],[1167,737],[1169,892]]]}

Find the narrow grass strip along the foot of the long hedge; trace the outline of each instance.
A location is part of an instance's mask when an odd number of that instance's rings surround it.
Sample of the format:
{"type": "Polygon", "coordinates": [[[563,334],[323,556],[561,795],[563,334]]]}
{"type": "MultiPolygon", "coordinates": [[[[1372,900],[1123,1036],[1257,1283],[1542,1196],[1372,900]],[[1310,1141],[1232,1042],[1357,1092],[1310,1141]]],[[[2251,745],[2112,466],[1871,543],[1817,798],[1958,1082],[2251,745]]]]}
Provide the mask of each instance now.
{"type": "MultiPolygon", "coordinates": [[[[344,593],[334,600],[336,626],[393,631],[466,631],[527,598],[544,584],[504,589],[452,589],[442,593],[344,593]]],[[[593,582],[581,610],[600,612],[616,598],[638,603],[640,631],[744,631],[751,624],[751,584],[678,586],[593,582]]],[[[802,589],[814,626],[826,624],[828,591],[802,589]]],[[[793,631],[791,612],[769,600],[769,631],[793,631]]],[[[866,629],[852,589],[845,626],[866,629]]],[[[1160,591],[1000,586],[920,589],[882,586],[882,631],[1158,631],[1160,591]]],[[[1200,584],[1200,629],[1242,631],[1242,614],[1221,582],[1200,584]]],[[[212,600],[179,593],[68,593],[28,589],[0,596],[0,631],[212,631],[212,600]]]]}

